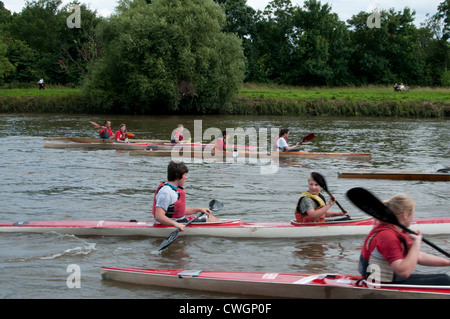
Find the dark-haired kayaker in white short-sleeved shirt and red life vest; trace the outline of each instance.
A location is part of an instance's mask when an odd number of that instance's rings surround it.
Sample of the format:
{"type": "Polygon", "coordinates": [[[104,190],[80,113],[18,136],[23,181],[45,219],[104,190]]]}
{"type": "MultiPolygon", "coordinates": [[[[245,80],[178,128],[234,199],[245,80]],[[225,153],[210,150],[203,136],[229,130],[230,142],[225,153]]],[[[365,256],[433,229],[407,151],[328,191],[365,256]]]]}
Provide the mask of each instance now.
{"type": "Polygon", "coordinates": [[[189,219],[195,217],[197,213],[203,212],[200,222],[219,221],[211,215],[209,208],[186,207],[186,193],[184,184],[188,179],[189,169],[183,163],[171,161],[167,167],[167,182],[159,184],[153,198],[152,214],[156,222],[179,228],[184,231],[186,223],[189,219]]]}

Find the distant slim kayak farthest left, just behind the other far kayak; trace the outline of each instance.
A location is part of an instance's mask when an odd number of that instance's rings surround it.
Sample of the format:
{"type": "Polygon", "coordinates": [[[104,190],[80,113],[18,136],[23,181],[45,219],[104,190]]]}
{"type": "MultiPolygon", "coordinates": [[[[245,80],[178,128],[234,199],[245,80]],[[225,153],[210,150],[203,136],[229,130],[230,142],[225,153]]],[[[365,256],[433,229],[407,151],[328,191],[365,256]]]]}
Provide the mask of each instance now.
{"type": "MultiPolygon", "coordinates": [[[[96,149],[96,150],[145,150],[145,149],[159,149],[159,150],[170,150],[173,149],[173,147],[176,144],[173,143],[163,143],[163,144],[156,144],[156,143],[109,143],[109,142],[92,142],[92,143],[79,143],[79,142],[69,142],[69,143],[53,143],[53,142],[45,142],[44,147],[45,148],[82,148],[82,149],[96,149]]],[[[182,149],[183,147],[194,147],[194,146],[200,146],[204,147],[205,144],[197,144],[197,143],[189,143],[189,144],[177,144],[177,147],[182,149]]]]}

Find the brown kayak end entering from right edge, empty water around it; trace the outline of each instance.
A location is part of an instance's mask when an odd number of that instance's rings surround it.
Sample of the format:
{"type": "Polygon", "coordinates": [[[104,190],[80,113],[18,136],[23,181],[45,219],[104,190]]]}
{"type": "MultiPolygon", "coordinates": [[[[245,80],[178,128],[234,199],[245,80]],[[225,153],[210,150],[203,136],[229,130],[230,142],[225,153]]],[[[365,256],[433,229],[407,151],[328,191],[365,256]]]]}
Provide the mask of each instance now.
{"type": "Polygon", "coordinates": [[[340,178],[397,179],[409,181],[450,181],[449,173],[423,172],[342,172],[340,178]]]}

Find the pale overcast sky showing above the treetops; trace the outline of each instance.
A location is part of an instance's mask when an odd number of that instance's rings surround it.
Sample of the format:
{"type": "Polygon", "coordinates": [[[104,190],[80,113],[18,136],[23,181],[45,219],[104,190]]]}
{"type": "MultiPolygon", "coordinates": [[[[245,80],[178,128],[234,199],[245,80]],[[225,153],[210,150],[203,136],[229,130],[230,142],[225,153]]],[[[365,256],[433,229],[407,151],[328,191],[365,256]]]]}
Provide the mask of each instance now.
{"type": "MultiPolygon", "coordinates": [[[[0,0],[3,1],[5,7],[12,12],[20,12],[25,5],[25,0],[0,0]]],[[[302,5],[303,0],[291,0],[294,5],[302,5]]],[[[409,7],[416,11],[416,25],[424,22],[426,14],[431,15],[437,12],[439,3],[444,0],[322,0],[321,3],[331,4],[332,11],[339,15],[340,20],[346,21],[352,15],[360,11],[372,12],[378,7],[381,10],[394,8],[397,11],[409,7]]],[[[71,0],[63,0],[63,4],[72,2],[71,0]]],[[[113,0],[81,0],[81,3],[87,4],[91,9],[97,10],[98,14],[106,17],[114,12],[117,1],[113,0]]],[[[263,10],[270,0],[247,0],[247,5],[255,10],[263,10]]]]}

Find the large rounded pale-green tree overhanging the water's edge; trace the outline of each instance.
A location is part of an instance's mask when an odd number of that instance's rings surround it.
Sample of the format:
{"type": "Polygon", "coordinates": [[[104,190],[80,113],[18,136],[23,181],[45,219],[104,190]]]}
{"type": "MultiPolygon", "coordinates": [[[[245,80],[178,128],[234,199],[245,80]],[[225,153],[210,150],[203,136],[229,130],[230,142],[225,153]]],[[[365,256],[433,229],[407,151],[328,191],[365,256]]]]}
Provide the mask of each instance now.
{"type": "Polygon", "coordinates": [[[128,1],[103,24],[104,45],[85,92],[109,110],[214,112],[243,80],[236,35],[212,0],[128,1]]]}

